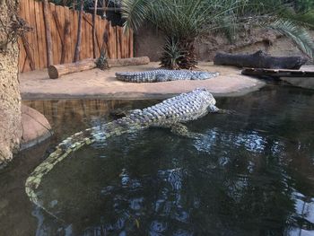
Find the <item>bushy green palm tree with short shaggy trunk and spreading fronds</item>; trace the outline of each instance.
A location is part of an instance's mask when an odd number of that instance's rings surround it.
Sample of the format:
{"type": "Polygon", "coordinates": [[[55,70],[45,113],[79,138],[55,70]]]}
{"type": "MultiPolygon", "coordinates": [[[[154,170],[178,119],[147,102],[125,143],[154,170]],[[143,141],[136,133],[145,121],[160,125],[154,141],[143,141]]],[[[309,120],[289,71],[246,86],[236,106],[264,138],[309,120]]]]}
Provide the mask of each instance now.
{"type": "Polygon", "coordinates": [[[161,66],[172,69],[196,66],[197,37],[210,31],[234,34],[243,25],[277,31],[293,39],[310,57],[314,55],[314,42],[307,31],[314,29],[314,16],[294,13],[291,5],[277,0],[262,4],[258,0],[124,0],[121,8],[126,30],[136,30],[148,21],[164,32],[167,39],[161,66]]]}

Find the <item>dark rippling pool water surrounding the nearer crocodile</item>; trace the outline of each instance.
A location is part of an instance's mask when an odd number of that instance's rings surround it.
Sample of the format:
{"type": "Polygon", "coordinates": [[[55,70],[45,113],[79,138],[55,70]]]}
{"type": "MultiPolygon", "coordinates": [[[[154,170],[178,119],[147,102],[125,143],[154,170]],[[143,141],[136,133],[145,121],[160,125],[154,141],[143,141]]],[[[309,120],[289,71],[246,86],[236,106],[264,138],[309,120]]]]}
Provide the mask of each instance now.
{"type": "Polygon", "coordinates": [[[188,123],[201,140],[152,128],[58,164],[39,196],[61,221],[24,194],[46,150],[109,121],[110,109],[156,101],[28,102],[56,135],[0,170],[0,234],[314,235],[314,92],[266,87],[217,101],[236,113],[188,123]]]}

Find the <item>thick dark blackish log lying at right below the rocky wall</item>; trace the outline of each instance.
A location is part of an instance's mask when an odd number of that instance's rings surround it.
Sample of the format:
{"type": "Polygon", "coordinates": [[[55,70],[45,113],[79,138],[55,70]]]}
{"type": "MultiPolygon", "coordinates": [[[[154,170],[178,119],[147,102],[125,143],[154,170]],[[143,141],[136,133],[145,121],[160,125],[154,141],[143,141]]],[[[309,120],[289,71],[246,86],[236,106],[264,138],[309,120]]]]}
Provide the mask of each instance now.
{"type": "Polygon", "coordinates": [[[267,69],[298,70],[308,61],[305,57],[271,57],[262,50],[253,54],[217,53],[214,65],[267,69]]]}

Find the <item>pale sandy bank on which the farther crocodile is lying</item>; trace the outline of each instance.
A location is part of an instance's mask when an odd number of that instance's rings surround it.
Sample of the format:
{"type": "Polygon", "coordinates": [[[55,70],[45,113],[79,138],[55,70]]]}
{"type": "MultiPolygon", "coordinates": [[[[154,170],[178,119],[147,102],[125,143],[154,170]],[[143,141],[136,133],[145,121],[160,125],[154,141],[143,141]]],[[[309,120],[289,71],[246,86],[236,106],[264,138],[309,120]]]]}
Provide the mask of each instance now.
{"type": "Polygon", "coordinates": [[[205,81],[171,81],[164,83],[126,83],[115,78],[116,72],[144,71],[158,68],[156,62],[143,66],[92,69],[49,79],[47,70],[20,74],[22,100],[58,99],[156,99],[167,98],[197,87],[205,87],[214,96],[236,96],[258,90],[265,83],[240,74],[232,66],[214,66],[201,62],[199,70],[219,72],[221,75],[205,81]]]}

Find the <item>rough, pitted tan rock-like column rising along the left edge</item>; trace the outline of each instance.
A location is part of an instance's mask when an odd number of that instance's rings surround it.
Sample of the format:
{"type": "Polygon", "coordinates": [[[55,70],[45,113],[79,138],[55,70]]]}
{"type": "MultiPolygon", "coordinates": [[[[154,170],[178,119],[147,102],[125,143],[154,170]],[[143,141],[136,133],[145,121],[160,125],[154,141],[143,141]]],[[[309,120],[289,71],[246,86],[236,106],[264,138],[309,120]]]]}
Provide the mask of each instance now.
{"type": "Polygon", "coordinates": [[[22,137],[19,48],[17,43],[7,44],[12,19],[8,4],[15,4],[15,1],[0,0],[0,164],[13,158],[22,137]]]}

